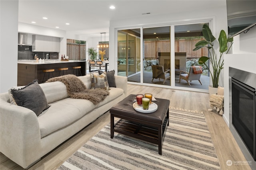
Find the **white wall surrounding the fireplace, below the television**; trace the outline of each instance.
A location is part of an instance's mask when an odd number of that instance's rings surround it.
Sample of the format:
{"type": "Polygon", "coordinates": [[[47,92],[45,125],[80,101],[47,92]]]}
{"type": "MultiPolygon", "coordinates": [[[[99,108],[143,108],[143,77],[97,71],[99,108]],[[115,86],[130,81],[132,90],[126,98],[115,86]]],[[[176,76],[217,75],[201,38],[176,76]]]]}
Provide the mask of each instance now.
{"type": "Polygon", "coordinates": [[[224,55],[224,115],[229,126],[229,67],[256,74],[256,27],[234,37],[233,54],[224,55]]]}

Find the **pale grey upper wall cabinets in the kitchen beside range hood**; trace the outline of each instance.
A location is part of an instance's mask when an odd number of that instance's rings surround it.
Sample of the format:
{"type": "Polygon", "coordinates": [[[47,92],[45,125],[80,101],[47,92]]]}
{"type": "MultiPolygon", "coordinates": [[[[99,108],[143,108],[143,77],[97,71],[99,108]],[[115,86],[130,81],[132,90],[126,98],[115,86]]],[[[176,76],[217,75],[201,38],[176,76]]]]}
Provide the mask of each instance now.
{"type": "Polygon", "coordinates": [[[32,51],[60,52],[60,38],[32,35],[32,51]]]}

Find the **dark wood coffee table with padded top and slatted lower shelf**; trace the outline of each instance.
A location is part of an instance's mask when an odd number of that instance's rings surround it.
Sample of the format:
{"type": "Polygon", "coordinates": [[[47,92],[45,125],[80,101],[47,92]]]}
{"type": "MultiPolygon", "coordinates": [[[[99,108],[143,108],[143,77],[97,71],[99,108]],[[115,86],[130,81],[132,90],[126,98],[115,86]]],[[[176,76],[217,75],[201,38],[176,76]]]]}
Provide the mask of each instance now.
{"type": "Polygon", "coordinates": [[[162,154],[163,135],[166,125],[169,126],[170,101],[156,98],[154,103],[158,109],[153,113],[140,113],[132,107],[133,97],[130,94],[124,100],[110,109],[110,137],[113,139],[114,132],[148,141],[158,145],[158,152],[162,154]],[[114,117],[120,118],[114,123],[114,117]]]}

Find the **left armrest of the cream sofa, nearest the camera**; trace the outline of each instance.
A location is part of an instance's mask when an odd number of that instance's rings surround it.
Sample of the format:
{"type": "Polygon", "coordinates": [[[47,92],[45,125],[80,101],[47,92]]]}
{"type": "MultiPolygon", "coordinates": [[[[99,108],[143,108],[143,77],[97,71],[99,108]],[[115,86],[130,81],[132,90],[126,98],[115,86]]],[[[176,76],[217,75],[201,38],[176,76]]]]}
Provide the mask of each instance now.
{"type": "Polygon", "coordinates": [[[10,104],[2,97],[0,103],[0,152],[27,168],[41,156],[40,128],[36,114],[25,107],[10,104]]]}

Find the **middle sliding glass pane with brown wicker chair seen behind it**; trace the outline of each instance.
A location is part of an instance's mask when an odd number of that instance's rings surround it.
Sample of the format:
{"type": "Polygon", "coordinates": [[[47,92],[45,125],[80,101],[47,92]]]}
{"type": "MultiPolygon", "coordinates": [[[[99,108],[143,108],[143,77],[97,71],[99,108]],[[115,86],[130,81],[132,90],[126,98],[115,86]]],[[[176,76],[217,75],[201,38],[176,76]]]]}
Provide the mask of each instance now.
{"type": "Polygon", "coordinates": [[[143,82],[170,86],[170,26],[143,29],[143,82]]]}

